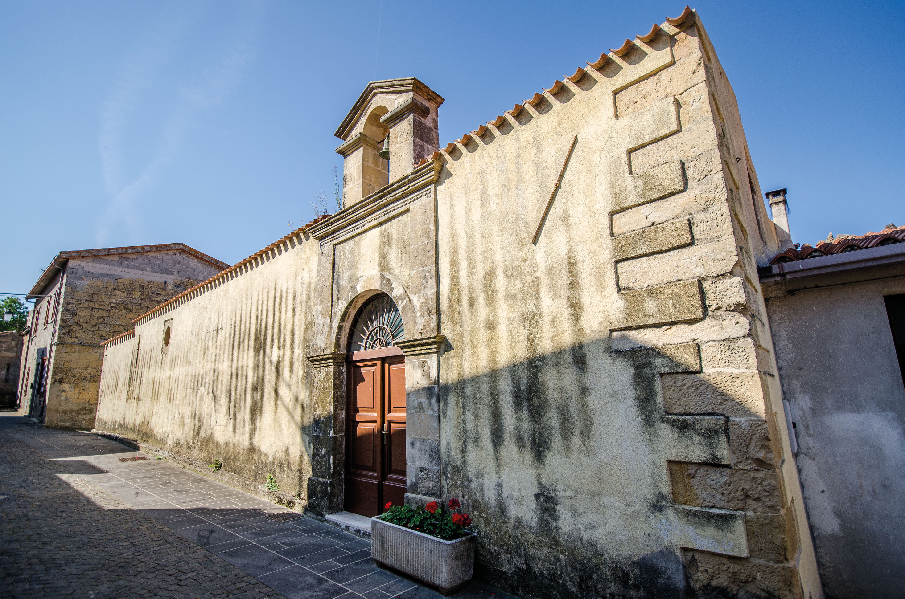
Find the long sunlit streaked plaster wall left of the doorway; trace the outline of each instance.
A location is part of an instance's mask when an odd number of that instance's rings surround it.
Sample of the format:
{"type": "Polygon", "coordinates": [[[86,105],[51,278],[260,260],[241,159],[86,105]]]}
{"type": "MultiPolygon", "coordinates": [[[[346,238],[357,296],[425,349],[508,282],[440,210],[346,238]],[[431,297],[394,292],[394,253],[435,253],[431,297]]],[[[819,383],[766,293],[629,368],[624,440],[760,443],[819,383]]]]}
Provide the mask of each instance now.
{"type": "Polygon", "coordinates": [[[107,347],[96,428],[305,497],[318,245],[294,233],[107,347]],[[190,299],[190,301],[187,301],[190,299]],[[166,353],[163,336],[171,327],[166,353]]]}

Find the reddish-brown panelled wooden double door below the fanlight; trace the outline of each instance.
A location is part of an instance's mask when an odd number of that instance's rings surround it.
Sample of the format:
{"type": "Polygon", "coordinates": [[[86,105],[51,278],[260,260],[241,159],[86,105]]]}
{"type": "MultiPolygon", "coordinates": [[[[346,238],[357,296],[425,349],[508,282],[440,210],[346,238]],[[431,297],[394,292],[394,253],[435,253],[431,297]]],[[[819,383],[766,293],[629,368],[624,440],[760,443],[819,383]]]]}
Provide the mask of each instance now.
{"type": "Polygon", "coordinates": [[[346,509],[376,516],[388,501],[405,503],[405,357],[357,359],[347,370],[346,509]]]}

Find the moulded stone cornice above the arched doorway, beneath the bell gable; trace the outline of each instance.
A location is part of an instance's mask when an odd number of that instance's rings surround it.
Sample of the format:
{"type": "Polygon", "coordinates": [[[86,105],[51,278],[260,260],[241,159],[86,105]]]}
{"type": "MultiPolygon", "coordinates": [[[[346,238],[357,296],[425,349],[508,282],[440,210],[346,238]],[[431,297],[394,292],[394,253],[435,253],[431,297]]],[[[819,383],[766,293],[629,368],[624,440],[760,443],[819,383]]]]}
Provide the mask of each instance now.
{"type": "MultiPolygon", "coordinates": [[[[331,239],[338,238],[347,233],[351,228],[355,231],[361,229],[365,221],[372,221],[375,217],[383,216],[381,213],[393,213],[388,208],[396,207],[406,198],[418,195],[417,192],[429,185],[433,185],[440,177],[443,165],[437,160],[431,160],[427,164],[417,166],[408,175],[395,180],[375,193],[368,195],[356,204],[340,210],[327,219],[313,224],[308,228],[308,233],[318,240],[321,247],[331,239]]],[[[378,219],[380,220],[380,219],[378,219]]]]}

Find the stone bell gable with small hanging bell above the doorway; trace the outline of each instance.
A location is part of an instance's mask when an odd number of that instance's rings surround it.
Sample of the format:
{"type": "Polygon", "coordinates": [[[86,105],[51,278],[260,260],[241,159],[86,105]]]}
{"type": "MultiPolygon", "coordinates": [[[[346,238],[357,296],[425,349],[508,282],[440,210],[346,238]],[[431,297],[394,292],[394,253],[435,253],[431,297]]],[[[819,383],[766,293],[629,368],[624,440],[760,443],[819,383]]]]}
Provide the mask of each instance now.
{"type": "Polygon", "coordinates": [[[343,160],[343,207],[356,204],[440,149],[443,98],[414,77],[371,81],[336,131],[343,160]],[[389,160],[379,156],[389,135],[389,160]]]}

